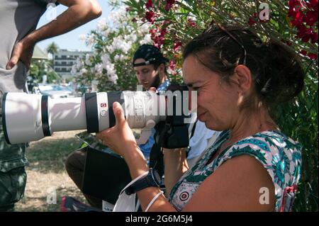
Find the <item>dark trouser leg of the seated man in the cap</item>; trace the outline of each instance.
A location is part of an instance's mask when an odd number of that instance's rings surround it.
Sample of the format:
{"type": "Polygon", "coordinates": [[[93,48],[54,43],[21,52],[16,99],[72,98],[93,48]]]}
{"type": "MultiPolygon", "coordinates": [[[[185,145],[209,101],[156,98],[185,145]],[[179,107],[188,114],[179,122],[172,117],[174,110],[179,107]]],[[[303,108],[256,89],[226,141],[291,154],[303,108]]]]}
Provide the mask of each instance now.
{"type": "MultiPolygon", "coordinates": [[[[65,162],[65,168],[67,169],[67,174],[74,181],[77,187],[82,191],[82,181],[84,175],[84,164],[86,158],[86,150],[78,149],[67,157],[67,161],[65,162]]],[[[93,196],[89,196],[83,194],[89,204],[95,208],[102,209],[102,200],[99,198],[95,198],[93,196]]]]}

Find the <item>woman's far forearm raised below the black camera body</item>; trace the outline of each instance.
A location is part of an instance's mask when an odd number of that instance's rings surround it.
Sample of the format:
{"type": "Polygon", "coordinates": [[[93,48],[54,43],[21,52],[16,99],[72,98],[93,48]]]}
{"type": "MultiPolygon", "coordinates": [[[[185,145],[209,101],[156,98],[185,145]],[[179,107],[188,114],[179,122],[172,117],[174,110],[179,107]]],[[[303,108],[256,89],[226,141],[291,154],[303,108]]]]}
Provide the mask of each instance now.
{"type": "Polygon", "coordinates": [[[189,169],[186,160],[186,151],[180,149],[163,149],[164,154],[164,182],[167,196],[181,176],[189,169]]]}

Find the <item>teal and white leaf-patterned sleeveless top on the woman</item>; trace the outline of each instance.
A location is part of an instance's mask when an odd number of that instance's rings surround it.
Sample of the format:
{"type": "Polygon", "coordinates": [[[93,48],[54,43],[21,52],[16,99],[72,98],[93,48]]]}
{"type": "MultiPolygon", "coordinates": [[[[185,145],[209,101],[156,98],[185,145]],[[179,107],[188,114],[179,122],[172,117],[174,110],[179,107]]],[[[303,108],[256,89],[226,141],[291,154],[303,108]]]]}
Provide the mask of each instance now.
{"type": "Polygon", "coordinates": [[[174,208],[181,211],[198,186],[225,161],[241,154],[249,154],[256,158],[272,177],[275,188],[276,211],[291,210],[296,186],[301,177],[302,146],[281,132],[269,130],[236,142],[220,152],[211,163],[207,164],[210,157],[228,139],[229,135],[229,130],[222,132],[194,167],[181,176],[169,196],[169,201],[174,205],[174,208]],[[293,191],[292,196],[291,191],[293,191]],[[289,200],[287,195],[290,197],[289,200]],[[289,205],[289,207],[287,208],[286,205],[289,205]]]}

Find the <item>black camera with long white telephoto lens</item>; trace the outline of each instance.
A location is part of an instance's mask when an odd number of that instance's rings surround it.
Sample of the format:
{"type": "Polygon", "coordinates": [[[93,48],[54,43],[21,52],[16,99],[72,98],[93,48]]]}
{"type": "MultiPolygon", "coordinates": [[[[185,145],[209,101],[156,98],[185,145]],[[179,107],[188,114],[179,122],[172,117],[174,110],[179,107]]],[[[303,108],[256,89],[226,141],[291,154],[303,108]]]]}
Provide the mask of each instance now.
{"type": "MultiPolygon", "coordinates": [[[[193,95],[191,95],[193,97],[193,95]]],[[[8,144],[40,140],[53,132],[101,132],[116,124],[113,102],[121,103],[130,128],[154,128],[165,123],[163,147],[189,145],[187,86],[171,84],[167,91],[86,93],[78,98],[50,98],[40,94],[6,93],[2,98],[2,124],[8,144]]]]}

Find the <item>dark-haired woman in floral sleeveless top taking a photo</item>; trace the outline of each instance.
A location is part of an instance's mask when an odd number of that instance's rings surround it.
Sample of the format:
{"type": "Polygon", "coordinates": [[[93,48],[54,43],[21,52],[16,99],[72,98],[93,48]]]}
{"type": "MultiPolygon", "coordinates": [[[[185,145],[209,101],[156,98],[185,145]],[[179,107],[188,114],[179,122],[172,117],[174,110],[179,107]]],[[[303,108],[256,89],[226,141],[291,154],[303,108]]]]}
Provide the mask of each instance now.
{"type": "MultiPolygon", "coordinates": [[[[157,187],[141,189],[142,209],[289,210],[286,193],[296,191],[301,145],[281,133],[272,114],[303,89],[296,57],[248,29],[221,26],[191,40],[183,56],[184,81],[198,92],[198,119],[224,132],[191,169],[184,150],[164,150],[165,185],[172,191],[167,199],[157,187]]],[[[123,109],[118,103],[113,108],[116,126],[98,137],[125,158],[136,179],[149,169],[123,109]]]]}

